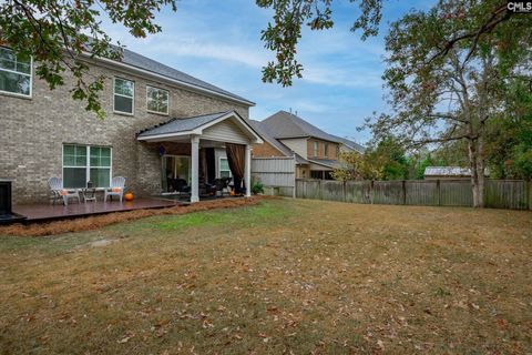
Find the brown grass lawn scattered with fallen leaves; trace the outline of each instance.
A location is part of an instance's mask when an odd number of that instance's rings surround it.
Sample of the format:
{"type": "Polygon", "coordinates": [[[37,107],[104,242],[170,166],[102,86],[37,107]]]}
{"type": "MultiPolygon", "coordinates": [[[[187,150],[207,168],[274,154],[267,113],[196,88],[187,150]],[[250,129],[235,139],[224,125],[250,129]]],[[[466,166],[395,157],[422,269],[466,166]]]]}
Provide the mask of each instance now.
{"type": "Polygon", "coordinates": [[[0,354],[532,352],[532,213],[265,200],[0,237],[0,354]]]}

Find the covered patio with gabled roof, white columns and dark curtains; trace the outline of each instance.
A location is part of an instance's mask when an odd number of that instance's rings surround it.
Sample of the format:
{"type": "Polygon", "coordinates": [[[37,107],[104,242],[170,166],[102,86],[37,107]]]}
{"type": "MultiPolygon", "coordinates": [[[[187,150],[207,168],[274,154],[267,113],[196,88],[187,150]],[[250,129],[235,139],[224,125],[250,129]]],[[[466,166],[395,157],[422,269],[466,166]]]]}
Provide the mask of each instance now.
{"type": "Polygon", "coordinates": [[[252,144],[263,141],[237,112],[173,119],[136,139],[158,153],[161,195],[195,203],[231,181],[233,193],[250,196],[252,144]]]}

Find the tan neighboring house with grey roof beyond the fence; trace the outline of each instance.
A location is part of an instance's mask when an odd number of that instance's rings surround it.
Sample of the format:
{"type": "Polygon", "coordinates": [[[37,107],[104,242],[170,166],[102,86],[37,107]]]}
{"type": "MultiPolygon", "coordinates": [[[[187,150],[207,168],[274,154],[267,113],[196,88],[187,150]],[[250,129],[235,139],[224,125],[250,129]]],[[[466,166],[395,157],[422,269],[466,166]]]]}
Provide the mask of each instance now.
{"type": "Polygon", "coordinates": [[[253,156],[295,156],[298,179],[331,179],[330,173],[340,166],[340,152],[364,152],[361,145],[326,133],[286,111],[250,122],[265,141],[262,146],[254,145],[253,156]]]}

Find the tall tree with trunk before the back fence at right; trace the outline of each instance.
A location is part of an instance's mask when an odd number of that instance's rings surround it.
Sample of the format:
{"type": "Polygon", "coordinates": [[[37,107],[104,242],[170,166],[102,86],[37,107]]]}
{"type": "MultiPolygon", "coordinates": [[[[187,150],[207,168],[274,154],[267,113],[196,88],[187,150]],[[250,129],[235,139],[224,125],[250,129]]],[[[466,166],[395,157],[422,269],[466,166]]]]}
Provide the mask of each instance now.
{"type": "Polygon", "coordinates": [[[469,33],[485,23],[492,3],[440,0],[427,12],[392,23],[383,79],[393,113],[367,125],[376,139],[392,134],[407,148],[466,141],[474,206],[484,201],[485,126],[501,114],[509,80],[530,80],[531,31],[515,33],[512,23],[532,26],[532,17],[501,22],[497,31],[452,48],[443,43],[450,33],[469,33]]]}

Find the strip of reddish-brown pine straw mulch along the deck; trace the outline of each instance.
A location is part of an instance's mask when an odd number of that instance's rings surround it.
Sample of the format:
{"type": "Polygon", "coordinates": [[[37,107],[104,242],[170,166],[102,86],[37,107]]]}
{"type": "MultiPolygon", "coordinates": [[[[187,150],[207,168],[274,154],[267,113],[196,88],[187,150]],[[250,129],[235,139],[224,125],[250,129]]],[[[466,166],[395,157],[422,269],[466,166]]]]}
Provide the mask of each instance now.
{"type": "Polygon", "coordinates": [[[95,215],[89,217],[80,217],[68,221],[55,221],[48,223],[34,224],[11,224],[0,226],[0,235],[12,236],[44,236],[70,232],[82,232],[98,230],[102,226],[121,223],[125,221],[139,220],[153,215],[172,215],[185,214],[191,212],[200,212],[218,209],[234,209],[242,206],[255,205],[264,199],[272,199],[270,196],[253,196],[247,199],[224,199],[214,201],[203,201],[191,205],[181,205],[157,210],[136,210],[127,212],[113,212],[104,215],[95,215]]]}

